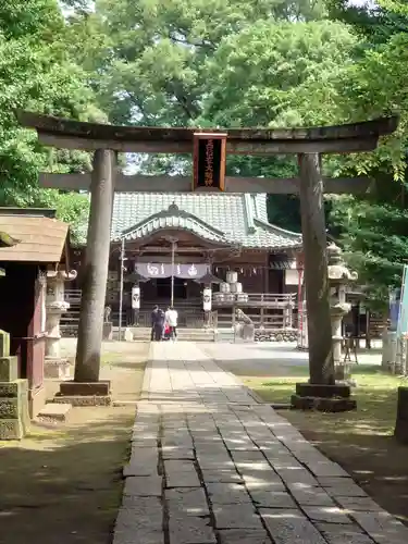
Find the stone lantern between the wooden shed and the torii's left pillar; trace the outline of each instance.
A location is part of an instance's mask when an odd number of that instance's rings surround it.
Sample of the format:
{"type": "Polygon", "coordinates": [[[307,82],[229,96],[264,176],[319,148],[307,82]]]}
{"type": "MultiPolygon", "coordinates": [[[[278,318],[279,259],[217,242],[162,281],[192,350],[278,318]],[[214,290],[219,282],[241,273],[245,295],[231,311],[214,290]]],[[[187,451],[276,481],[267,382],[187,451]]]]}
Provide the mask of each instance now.
{"type": "Polygon", "coordinates": [[[70,379],[70,362],[61,358],[60,348],[60,321],[61,316],[70,308],[64,300],[64,282],[76,279],[77,272],[65,270],[52,270],[47,272],[47,297],[46,297],[46,378],[70,379]]]}

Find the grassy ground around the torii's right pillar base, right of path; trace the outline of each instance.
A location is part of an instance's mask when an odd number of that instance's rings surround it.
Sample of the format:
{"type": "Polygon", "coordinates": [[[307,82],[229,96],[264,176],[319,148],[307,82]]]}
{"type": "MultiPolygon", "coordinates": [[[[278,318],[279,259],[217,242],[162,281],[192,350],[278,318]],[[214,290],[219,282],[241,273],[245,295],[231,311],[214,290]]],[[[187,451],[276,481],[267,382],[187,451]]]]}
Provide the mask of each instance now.
{"type": "MultiPolygon", "coordinates": [[[[308,372],[307,367],[286,370],[285,375],[242,379],[263,400],[287,403],[295,383],[305,381],[308,372]]],[[[408,526],[408,447],[393,437],[397,388],[408,385],[408,380],[384,373],[379,366],[358,364],[351,371],[357,382],[351,390],[357,410],[281,413],[324,455],[338,462],[380,506],[408,526]]]]}

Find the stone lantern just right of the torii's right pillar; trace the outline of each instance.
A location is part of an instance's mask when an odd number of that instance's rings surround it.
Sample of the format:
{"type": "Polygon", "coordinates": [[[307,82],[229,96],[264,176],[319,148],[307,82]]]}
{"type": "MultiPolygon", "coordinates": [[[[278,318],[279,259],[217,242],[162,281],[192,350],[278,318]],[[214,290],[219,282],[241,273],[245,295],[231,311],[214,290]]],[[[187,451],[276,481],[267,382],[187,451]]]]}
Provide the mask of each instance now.
{"type": "Polygon", "coordinates": [[[342,361],[342,321],[351,305],[346,302],[346,286],[358,279],[357,272],[350,271],[342,256],[342,249],[335,244],[327,247],[327,275],[330,283],[330,311],[332,318],[333,358],[336,379],[347,378],[346,364],[342,361]]]}

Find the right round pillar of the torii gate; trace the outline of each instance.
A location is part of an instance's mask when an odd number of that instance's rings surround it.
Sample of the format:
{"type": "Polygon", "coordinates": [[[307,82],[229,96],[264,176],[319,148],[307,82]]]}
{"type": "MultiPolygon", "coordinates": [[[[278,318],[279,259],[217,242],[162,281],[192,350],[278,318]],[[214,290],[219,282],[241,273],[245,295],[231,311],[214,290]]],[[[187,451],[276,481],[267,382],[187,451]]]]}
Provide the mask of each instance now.
{"type": "Polygon", "coordinates": [[[323,182],[318,153],[298,156],[305,251],[310,383],[333,385],[334,361],[329,301],[323,182]]]}

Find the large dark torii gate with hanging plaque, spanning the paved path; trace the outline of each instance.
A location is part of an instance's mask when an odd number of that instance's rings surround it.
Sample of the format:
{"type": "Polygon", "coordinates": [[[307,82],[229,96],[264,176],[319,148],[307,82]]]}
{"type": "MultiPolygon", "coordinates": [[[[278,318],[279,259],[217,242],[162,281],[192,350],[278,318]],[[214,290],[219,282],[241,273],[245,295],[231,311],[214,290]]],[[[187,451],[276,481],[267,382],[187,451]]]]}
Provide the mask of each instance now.
{"type": "Polygon", "coordinates": [[[98,380],[114,190],[299,194],[310,383],[334,384],[323,191],[364,193],[370,180],[322,178],[321,156],[371,151],[380,136],[396,129],[397,118],[312,128],[232,128],[211,133],[200,128],[84,123],[32,112],[18,112],[17,118],[23,126],[37,131],[42,145],[94,151],[91,174],[40,174],[42,187],[90,188],[91,194],[75,379],[70,387],[64,384],[67,394],[83,392],[84,382],[89,394],[92,390],[101,393],[102,383],[98,380]],[[116,174],[118,152],[194,153],[194,178],[116,174]],[[297,154],[299,176],[225,177],[225,156],[234,153],[297,154]]]}

